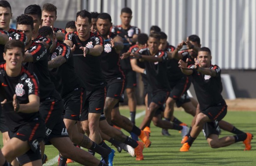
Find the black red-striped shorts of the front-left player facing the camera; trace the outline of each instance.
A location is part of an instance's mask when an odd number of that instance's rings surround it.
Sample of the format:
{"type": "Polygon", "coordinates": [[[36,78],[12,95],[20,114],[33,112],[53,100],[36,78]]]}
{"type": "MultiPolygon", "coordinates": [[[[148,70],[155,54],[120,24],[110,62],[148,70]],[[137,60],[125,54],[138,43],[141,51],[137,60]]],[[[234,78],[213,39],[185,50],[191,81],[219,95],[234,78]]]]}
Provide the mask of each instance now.
{"type": "Polygon", "coordinates": [[[18,157],[20,165],[41,159],[39,143],[45,136],[45,124],[42,119],[36,118],[34,122],[29,122],[20,127],[16,132],[9,131],[10,138],[16,137],[22,141],[28,141],[30,150],[18,157]]]}

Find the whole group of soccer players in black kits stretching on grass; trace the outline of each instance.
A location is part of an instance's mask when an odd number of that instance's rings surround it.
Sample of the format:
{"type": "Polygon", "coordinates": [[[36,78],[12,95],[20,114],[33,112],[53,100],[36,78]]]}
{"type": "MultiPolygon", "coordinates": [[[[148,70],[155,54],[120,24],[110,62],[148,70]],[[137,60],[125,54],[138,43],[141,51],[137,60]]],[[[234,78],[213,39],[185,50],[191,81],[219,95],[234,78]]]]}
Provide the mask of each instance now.
{"type": "Polygon", "coordinates": [[[0,0],[0,166],[40,166],[49,144],[60,152],[58,166],[73,161],[112,166],[115,151],[104,140],[143,160],[144,146],[151,145],[151,121],[163,135],[170,135],[168,129],[181,132],[180,151],[189,151],[202,129],[212,148],[242,141],[251,149],[253,135],[222,120],[227,106],[221,69],[211,64],[211,51],[201,48],[197,35],[175,48],[159,27],[147,35],[131,26],[128,7],[121,10],[119,26],[108,13],[81,10],[65,29],[56,28],[57,8],[50,3],[26,7],[16,29],[9,27],[11,17],[9,2],[0,0]],[[181,50],[183,45],[187,48],[181,50]],[[146,105],[140,127],[135,124],[136,73],[141,73],[146,105]],[[191,82],[198,103],[186,93],[191,82]],[[125,90],[131,120],[119,111],[125,90]],[[189,130],[173,116],[175,103],[194,117],[189,130]],[[219,139],[220,128],[236,135],[219,139]]]}

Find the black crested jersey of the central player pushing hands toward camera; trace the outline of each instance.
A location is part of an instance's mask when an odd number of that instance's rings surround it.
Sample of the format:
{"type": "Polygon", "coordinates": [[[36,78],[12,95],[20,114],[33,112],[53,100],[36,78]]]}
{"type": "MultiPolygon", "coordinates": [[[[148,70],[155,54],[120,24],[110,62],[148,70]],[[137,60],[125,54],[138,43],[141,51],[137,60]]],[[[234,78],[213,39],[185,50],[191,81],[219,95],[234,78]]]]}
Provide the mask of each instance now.
{"type": "Polygon", "coordinates": [[[78,37],[78,32],[70,32],[66,34],[65,40],[71,40],[76,48],[73,52],[75,73],[83,81],[86,90],[93,91],[105,86],[105,78],[101,71],[101,56],[92,56],[87,54],[83,56],[83,50],[79,47],[93,48],[96,45],[104,46],[103,38],[90,32],[90,38],[86,41],[81,41],[78,37]]]}

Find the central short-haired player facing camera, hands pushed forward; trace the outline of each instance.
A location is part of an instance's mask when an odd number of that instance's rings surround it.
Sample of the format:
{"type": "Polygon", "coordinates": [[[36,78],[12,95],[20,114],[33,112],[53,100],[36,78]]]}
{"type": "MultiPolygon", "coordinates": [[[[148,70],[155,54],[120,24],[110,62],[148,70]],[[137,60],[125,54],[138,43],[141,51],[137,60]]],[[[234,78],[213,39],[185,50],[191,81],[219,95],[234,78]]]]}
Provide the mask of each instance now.
{"type": "Polygon", "coordinates": [[[101,71],[101,53],[103,51],[103,38],[90,32],[91,14],[81,10],[76,14],[75,26],[77,31],[68,33],[64,43],[73,47],[75,45],[74,66],[75,73],[81,78],[81,86],[86,89],[86,98],[81,112],[81,124],[89,124],[89,138],[109,148],[100,137],[99,120],[104,110],[105,78],[101,71]],[[85,72],[86,71],[86,72],[85,72]]]}

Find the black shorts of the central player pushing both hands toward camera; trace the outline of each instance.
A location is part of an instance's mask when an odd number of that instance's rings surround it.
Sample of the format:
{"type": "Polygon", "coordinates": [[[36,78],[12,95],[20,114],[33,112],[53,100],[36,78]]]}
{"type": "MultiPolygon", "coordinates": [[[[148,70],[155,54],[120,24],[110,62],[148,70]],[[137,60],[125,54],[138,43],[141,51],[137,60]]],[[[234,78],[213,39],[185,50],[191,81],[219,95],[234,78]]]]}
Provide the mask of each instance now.
{"type": "MultiPolygon", "coordinates": [[[[100,88],[94,91],[86,90],[84,94],[85,102],[83,103],[83,109],[81,112],[80,121],[88,120],[89,113],[101,114],[104,111],[106,87],[100,88]]],[[[83,99],[84,99],[83,98],[83,99]]]]}

